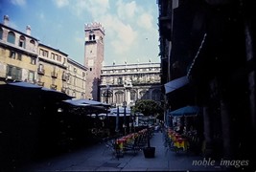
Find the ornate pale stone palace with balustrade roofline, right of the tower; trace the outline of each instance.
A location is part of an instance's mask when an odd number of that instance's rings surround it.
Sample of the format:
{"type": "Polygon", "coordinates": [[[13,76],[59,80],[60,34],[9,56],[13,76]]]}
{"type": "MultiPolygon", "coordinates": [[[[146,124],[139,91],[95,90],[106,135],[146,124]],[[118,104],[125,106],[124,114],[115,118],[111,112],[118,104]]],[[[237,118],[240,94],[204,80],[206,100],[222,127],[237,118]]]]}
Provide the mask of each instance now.
{"type": "Polygon", "coordinates": [[[138,99],[160,101],[160,63],[104,66],[100,93],[101,101],[113,106],[132,106],[138,99]]]}

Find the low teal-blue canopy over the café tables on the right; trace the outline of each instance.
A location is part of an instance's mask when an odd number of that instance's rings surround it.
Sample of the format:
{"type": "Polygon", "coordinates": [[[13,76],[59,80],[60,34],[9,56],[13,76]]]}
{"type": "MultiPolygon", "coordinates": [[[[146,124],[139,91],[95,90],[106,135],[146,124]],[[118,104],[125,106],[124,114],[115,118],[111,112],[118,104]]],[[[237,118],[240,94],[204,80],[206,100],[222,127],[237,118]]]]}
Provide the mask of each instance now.
{"type": "Polygon", "coordinates": [[[179,116],[196,116],[202,111],[198,106],[185,106],[169,113],[172,117],[179,116]]]}

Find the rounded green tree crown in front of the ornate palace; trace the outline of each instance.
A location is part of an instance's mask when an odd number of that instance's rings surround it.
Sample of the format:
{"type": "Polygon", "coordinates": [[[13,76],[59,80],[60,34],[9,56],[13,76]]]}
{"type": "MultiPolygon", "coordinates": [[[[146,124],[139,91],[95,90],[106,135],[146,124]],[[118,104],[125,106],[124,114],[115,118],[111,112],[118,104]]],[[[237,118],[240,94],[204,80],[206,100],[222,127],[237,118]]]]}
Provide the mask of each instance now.
{"type": "Polygon", "coordinates": [[[133,112],[142,113],[144,116],[158,116],[163,114],[163,108],[160,103],[152,99],[139,99],[133,107],[133,112]]]}

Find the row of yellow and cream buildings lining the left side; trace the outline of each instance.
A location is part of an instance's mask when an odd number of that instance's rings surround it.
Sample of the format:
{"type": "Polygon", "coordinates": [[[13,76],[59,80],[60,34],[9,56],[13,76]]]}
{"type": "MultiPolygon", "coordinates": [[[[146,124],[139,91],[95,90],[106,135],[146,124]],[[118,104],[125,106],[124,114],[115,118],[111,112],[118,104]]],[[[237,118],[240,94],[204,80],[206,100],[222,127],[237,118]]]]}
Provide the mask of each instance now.
{"type": "Polygon", "coordinates": [[[68,54],[47,46],[26,32],[9,27],[9,16],[0,23],[0,83],[25,81],[85,98],[87,68],[68,54]]]}

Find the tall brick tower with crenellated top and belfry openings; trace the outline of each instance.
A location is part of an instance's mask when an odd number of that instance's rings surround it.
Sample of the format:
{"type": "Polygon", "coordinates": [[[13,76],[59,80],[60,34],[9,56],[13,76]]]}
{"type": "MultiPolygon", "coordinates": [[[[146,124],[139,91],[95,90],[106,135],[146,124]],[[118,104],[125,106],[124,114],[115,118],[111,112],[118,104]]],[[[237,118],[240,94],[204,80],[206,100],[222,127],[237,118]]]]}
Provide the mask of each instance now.
{"type": "Polygon", "coordinates": [[[84,66],[86,74],[85,98],[100,101],[100,75],[104,61],[105,30],[100,23],[86,24],[84,27],[84,66]]]}

